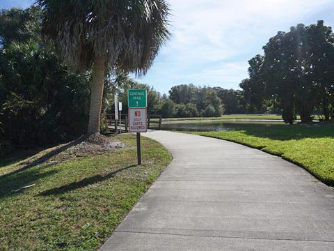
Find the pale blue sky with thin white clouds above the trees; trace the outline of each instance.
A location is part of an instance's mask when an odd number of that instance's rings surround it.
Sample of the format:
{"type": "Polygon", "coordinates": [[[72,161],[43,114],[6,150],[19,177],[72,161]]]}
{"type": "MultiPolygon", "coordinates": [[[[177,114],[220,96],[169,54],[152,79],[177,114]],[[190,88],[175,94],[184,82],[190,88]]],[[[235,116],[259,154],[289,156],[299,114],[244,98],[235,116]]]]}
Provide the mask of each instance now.
{"type": "MultiPolygon", "coordinates": [[[[334,0],[166,0],[170,40],[138,82],[161,94],[193,83],[239,89],[248,60],[278,31],[324,20],[334,27],[334,0]]],[[[0,0],[0,8],[27,8],[30,0],[0,0]]]]}

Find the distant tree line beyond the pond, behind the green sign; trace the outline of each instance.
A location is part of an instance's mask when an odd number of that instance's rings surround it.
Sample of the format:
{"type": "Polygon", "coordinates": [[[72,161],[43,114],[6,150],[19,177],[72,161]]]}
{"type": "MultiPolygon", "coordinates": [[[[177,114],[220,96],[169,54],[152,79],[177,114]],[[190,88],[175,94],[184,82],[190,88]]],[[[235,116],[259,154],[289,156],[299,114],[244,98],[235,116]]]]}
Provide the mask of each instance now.
{"type": "MultiPolygon", "coordinates": [[[[217,117],[222,114],[247,112],[240,104],[241,91],[221,87],[201,87],[194,84],[173,86],[168,95],[161,94],[147,84],[132,82],[131,88],[148,90],[148,114],[161,114],[164,118],[217,117]]],[[[120,98],[127,109],[127,91],[120,90],[120,98]]],[[[109,110],[113,112],[112,109],[109,110]]]]}

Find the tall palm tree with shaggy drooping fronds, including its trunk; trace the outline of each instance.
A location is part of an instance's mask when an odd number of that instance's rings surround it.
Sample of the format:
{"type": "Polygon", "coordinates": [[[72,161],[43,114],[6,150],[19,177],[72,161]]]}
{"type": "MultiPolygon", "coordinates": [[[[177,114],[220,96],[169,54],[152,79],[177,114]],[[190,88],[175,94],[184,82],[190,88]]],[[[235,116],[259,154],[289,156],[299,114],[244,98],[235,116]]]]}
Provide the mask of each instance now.
{"type": "Polygon", "coordinates": [[[93,70],[88,134],[100,133],[106,67],[145,75],[169,37],[166,0],[37,0],[70,70],[93,70]]]}

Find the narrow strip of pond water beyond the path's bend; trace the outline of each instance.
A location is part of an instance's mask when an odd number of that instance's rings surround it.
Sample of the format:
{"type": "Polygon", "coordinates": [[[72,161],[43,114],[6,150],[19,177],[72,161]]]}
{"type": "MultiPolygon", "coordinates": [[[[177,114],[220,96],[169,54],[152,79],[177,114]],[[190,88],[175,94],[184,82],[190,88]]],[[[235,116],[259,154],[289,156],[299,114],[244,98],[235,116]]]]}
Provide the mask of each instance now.
{"type": "MultiPolygon", "coordinates": [[[[282,122],[222,122],[222,121],[196,121],[196,122],[173,122],[163,123],[161,130],[179,130],[179,131],[225,131],[225,130],[243,130],[246,128],[270,127],[273,125],[284,125],[282,122]]],[[[152,124],[152,129],[154,125],[152,124]]]]}

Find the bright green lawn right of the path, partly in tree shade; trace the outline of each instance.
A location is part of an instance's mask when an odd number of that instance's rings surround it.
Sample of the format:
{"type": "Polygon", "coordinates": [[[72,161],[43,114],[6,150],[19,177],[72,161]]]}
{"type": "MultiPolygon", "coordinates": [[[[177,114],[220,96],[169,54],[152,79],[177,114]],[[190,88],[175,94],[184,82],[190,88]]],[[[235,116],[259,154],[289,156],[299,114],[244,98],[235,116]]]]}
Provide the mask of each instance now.
{"type": "Polygon", "coordinates": [[[257,126],[221,132],[191,132],[226,139],[279,155],[334,186],[334,124],[257,126]]]}

